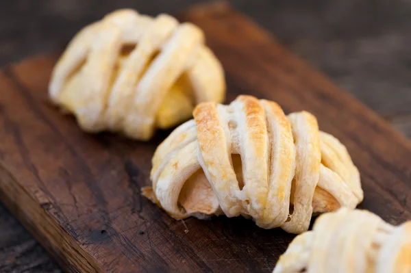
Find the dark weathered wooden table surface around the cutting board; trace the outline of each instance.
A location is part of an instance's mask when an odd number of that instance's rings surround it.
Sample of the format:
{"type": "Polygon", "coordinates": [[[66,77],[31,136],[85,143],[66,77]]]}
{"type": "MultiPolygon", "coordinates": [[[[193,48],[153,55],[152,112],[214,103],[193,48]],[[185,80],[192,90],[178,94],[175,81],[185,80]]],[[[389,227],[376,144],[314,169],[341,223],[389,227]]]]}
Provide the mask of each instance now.
{"type": "MultiPolygon", "coordinates": [[[[1,1],[0,66],[61,48],[80,27],[115,8],[172,13],[197,2],[201,1],[1,1]]],[[[314,1],[232,1],[291,51],[411,137],[411,2],[309,2],[314,1]]],[[[60,272],[1,205],[0,272],[60,272]]]]}

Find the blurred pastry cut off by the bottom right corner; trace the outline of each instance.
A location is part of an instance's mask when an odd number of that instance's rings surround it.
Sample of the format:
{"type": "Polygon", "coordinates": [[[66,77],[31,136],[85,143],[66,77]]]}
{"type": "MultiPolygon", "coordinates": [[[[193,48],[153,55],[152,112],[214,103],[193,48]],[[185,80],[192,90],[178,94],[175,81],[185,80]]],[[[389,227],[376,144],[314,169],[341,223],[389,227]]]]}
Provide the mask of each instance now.
{"type": "Polygon", "coordinates": [[[295,237],[273,273],[411,272],[411,221],[392,226],[364,211],[325,213],[295,237]]]}

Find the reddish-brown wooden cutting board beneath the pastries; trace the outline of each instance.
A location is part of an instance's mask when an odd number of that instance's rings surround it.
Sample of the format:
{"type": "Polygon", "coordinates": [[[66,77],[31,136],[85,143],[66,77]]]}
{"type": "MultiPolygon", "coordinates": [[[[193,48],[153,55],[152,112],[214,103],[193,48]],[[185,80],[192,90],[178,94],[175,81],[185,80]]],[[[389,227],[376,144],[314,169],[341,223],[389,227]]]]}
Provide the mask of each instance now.
{"type": "MultiPolygon", "coordinates": [[[[288,112],[308,110],[360,169],[360,207],[411,219],[411,145],[225,3],[179,16],[205,32],[226,71],[228,96],[253,94],[288,112]]],[[[243,218],[173,220],[140,196],[151,142],[82,132],[47,102],[58,54],[0,73],[0,199],[68,272],[271,272],[294,235],[243,218]]]]}

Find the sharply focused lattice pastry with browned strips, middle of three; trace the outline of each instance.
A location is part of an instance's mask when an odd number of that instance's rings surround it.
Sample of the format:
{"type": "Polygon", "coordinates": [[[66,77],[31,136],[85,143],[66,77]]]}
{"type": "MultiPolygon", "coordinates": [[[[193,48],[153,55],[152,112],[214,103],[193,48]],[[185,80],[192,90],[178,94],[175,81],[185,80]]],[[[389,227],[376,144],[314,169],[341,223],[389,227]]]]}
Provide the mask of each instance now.
{"type": "Polygon", "coordinates": [[[152,159],[144,194],[174,218],[225,214],[290,233],[313,212],[354,208],[363,198],[347,149],[308,112],[284,114],[272,101],[238,96],[201,103],[152,159]]]}

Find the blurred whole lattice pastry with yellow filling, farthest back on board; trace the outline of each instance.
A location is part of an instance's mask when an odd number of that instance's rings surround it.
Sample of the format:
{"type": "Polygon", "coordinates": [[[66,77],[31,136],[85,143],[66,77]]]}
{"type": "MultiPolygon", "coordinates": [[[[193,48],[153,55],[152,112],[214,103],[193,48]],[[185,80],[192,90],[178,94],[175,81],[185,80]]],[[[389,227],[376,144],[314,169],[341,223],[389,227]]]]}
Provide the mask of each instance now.
{"type": "Polygon", "coordinates": [[[199,27],[166,14],[117,10],[73,38],[55,65],[49,95],[85,131],[148,140],[155,128],[188,120],[197,103],[222,102],[225,79],[199,27]]]}

